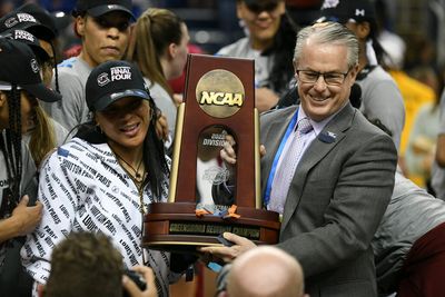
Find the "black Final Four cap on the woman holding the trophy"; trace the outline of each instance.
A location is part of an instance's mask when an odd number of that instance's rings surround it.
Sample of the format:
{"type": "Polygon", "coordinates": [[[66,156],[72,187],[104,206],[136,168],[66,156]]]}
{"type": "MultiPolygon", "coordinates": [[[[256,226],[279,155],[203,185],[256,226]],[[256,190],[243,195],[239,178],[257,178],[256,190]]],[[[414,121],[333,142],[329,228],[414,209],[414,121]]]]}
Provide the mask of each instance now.
{"type": "Polygon", "coordinates": [[[92,69],[86,86],[90,111],[101,111],[123,97],[150,99],[148,87],[137,66],[118,60],[103,62],[92,69]]]}

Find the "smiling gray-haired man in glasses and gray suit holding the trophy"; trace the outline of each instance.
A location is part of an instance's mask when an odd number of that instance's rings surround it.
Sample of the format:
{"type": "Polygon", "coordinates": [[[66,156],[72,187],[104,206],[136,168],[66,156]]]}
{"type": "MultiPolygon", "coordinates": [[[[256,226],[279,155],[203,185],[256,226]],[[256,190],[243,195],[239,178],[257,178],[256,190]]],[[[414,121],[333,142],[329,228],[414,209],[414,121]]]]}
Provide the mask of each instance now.
{"type": "MultiPolygon", "coordinates": [[[[301,264],[312,297],[377,296],[370,240],[393,192],[397,152],[348,101],[357,60],[357,39],[344,26],[303,29],[294,56],[301,105],[260,120],[264,202],[281,212],[277,246],[301,264]]],[[[236,162],[229,143],[221,157],[236,162]]],[[[201,250],[230,261],[255,247],[224,236],[234,246],[201,250]]]]}

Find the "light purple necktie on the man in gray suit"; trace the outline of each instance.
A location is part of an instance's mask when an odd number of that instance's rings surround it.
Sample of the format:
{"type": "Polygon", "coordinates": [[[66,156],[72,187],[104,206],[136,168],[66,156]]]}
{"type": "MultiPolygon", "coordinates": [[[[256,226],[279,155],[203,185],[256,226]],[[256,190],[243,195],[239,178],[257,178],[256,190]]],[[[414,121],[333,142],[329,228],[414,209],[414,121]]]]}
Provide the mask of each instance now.
{"type": "Polygon", "coordinates": [[[283,214],[286,202],[287,192],[289,191],[290,182],[294,178],[295,169],[301,157],[307,133],[313,129],[308,118],[303,118],[298,121],[297,129],[287,141],[289,146],[281,156],[280,164],[274,177],[270,191],[270,202],[267,209],[283,214]]]}

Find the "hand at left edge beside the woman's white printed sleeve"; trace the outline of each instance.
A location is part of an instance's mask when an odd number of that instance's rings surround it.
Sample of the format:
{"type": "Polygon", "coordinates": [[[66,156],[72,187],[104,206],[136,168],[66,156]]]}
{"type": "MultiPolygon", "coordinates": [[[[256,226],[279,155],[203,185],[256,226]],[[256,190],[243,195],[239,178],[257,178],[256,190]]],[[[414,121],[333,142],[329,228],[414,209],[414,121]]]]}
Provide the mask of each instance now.
{"type": "Polygon", "coordinates": [[[36,229],[42,217],[42,204],[36,202],[36,206],[28,206],[29,197],[24,195],[19,205],[12,210],[11,220],[17,226],[17,236],[26,236],[36,229]]]}

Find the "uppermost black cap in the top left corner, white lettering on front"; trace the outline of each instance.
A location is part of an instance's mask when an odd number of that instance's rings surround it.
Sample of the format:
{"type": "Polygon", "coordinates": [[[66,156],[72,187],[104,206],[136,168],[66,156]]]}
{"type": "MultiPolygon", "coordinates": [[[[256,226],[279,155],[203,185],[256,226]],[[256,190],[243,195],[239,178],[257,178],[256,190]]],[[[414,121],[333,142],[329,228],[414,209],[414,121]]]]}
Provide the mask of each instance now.
{"type": "Polygon", "coordinates": [[[28,31],[46,41],[51,41],[56,38],[56,33],[47,26],[41,24],[33,16],[17,10],[7,13],[0,19],[0,32],[13,29],[28,31]]]}

